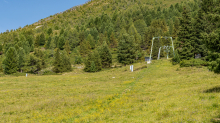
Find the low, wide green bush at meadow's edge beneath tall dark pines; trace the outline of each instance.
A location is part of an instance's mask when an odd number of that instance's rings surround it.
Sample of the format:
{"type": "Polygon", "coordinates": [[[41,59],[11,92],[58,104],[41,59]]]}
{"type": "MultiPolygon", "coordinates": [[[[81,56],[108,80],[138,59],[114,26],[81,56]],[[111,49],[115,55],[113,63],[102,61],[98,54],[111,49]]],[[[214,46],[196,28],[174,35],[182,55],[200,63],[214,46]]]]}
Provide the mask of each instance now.
{"type": "Polygon", "coordinates": [[[208,63],[206,61],[203,61],[201,59],[191,59],[191,60],[182,60],[180,62],[180,67],[201,67],[201,66],[207,66],[208,63]]]}

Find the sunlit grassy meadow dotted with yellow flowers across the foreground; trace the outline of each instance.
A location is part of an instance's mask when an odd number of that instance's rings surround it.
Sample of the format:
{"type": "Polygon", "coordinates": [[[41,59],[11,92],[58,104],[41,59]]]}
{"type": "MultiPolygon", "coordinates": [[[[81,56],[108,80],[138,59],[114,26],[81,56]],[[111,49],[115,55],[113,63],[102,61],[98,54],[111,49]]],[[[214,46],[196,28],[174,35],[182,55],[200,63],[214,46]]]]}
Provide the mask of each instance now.
{"type": "MultiPolygon", "coordinates": [[[[137,63],[134,69],[145,63],[137,63]]],[[[218,122],[220,75],[167,60],[131,73],[0,77],[1,122],[218,122]],[[216,88],[215,88],[216,87],[216,88]],[[213,89],[214,88],[214,89],[213,89]]]]}

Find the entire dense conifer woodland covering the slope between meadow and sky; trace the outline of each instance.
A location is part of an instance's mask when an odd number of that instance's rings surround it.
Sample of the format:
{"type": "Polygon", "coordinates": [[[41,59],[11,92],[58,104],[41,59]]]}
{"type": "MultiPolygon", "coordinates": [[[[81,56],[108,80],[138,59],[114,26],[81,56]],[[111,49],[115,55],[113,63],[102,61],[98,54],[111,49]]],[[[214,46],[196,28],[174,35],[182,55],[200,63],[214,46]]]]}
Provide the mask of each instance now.
{"type": "MultiPolygon", "coordinates": [[[[164,0],[165,1],[165,0],[164,0]]],[[[173,64],[208,66],[220,72],[220,1],[164,2],[93,0],[32,25],[0,34],[0,71],[62,73],[73,64],[97,72],[117,62],[129,65],[149,56],[152,38],[174,39],[173,64]],[[201,59],[194,59],[201,54],[201,59]]],[[[154,41],[153,59],[170,39],[154,41]]],[[[172,50],[171,50],[172,51],[172,50]]],[[[161,57],[166,52],[162,50],[161,57]]]]}

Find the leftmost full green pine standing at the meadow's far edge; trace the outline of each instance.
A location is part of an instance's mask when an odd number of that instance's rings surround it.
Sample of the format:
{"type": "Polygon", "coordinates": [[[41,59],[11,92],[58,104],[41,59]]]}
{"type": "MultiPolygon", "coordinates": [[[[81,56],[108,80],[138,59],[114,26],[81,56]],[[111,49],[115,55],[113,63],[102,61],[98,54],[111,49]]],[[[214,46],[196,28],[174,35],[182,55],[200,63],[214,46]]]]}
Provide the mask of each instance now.
{"type": "Polygon", "coordinates": [[[18,56],[14,47],[10,47],[3,61],[3,69],[5,74],[16,73],[18,70],[18,56]]]}

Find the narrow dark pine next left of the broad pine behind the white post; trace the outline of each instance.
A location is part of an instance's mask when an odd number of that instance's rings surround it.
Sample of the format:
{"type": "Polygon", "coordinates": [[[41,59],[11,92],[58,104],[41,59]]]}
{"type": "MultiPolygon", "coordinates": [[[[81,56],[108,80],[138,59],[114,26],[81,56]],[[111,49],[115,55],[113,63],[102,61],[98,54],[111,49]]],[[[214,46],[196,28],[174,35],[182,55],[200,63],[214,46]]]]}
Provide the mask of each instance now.
{"type": "Polygon", "coordinates": [[[103,43],[99,52],[103,68],[110,67],[112,64],[112,54],[106,42],[103,43]]]}

